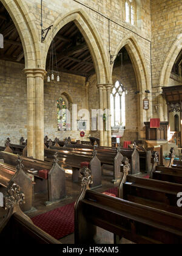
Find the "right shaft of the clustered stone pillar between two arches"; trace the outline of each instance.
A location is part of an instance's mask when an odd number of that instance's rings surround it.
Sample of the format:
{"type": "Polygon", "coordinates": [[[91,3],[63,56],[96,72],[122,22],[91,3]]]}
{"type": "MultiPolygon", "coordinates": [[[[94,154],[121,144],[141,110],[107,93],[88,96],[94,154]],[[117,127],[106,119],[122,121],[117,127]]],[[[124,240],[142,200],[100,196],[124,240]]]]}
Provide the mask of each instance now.
{"type": "Polygon", "coordinates": [[[112,84],[106,85],[107,90],[107,146],[112,146],[112,138],[111,138],[111,115],[110,115],[110,90],[112,84]]]}

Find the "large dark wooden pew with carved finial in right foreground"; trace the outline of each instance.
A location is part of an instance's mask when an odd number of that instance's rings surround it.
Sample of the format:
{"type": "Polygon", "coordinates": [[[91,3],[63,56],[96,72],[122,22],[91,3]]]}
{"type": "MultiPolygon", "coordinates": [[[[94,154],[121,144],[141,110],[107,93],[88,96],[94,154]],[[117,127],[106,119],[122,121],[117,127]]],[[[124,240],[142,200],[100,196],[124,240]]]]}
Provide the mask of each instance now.
{"type": "Polygon", "coordinates": [[[95,243],[96,226],[134,243],[181,244],[182,216],[90,191],[84,169],[75,204],[75,244],[95,243]]]}

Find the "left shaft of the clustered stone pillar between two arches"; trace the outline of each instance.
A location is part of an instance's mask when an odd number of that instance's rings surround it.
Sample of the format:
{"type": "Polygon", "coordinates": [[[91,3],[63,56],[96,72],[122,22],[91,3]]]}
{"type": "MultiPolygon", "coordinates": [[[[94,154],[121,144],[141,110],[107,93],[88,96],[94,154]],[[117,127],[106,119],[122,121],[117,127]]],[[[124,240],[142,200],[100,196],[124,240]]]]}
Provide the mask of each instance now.
{"type": "Polygon", "coordinates": [[[103,85],[97,85],[99,91],[99,133],[100,133],[100,146],[104,146],[104,127],[103,127],[103,85]]]}

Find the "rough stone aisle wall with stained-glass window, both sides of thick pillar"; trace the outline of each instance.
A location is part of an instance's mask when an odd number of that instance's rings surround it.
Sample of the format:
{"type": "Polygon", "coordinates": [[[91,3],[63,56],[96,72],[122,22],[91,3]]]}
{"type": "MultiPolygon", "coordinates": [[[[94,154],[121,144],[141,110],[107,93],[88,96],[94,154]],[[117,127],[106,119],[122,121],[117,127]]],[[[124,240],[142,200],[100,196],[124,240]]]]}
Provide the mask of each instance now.
{"type": "MultiPolygon", "coordinates": [[[[0,145],[10,137],[12,143],[19,144],[21,137],[27,138],[27,79],[24,65],[1,61],[0,63],[0,145]]],[[[87,108],[85,78],[72,74],[61,74],[57,82],[44,82],[44,135],[52,140],[71,137],[73,140],[88,140],[89,131],[81,138],[79,130],[58,131],[56,101],[65,93],[78,111],[87,108]]],[[[79,119],[79,118],[78,118],[79,119]]]]}

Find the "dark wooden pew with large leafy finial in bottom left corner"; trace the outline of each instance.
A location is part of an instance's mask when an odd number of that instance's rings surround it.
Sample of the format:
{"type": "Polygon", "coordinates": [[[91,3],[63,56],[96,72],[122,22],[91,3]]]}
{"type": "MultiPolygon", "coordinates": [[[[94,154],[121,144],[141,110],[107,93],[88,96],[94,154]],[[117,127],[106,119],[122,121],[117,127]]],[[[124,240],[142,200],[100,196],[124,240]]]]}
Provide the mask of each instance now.
{"type": "Polygon", "coordinates": [[[7,215],[0,222],[1,247],[22,244],[29,246],[30,244],[61,244],[36,227],[32,220],[22,213],[19,206],[24,204],[25,196],[16,183],[8,183],[3,194],[3,201],[7,215]]]}

